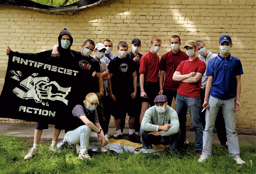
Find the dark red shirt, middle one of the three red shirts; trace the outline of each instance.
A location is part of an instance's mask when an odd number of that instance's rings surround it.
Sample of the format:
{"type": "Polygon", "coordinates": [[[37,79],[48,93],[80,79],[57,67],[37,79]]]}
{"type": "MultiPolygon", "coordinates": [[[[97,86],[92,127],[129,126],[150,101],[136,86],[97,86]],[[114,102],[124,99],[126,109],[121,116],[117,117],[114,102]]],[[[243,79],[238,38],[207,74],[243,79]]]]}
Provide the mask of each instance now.
{"type": "Polygon", "coordinates": [[[179,81],[172,81],[172,76],[174,76],[174,72],[176,71],[177,66],[181,61],[187,60],[188,55],[179,51],[176,54],[172,52],[165,53],[160,59],[160,71],[166,72],[166,78],[164,80],[163,89],[172,89],[177,90],[179,88],[179,81]]]}

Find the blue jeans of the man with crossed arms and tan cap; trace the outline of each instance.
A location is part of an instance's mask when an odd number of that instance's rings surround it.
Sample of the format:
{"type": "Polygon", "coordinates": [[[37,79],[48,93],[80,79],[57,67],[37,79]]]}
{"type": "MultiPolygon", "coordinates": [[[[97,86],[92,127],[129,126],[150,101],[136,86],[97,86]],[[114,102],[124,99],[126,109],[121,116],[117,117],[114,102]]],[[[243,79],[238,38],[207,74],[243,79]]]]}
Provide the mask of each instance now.
{"type": "Polygon", "coordinates": [[[203,124],[201,122],[201,99],[185,97],[177,94],[175,101],[176,112],[180,122],[178,146],[183,146],[186,139],[187,110],[189,110],[193,129],[195,130],[196,150],[203,150],[203,124]]]}

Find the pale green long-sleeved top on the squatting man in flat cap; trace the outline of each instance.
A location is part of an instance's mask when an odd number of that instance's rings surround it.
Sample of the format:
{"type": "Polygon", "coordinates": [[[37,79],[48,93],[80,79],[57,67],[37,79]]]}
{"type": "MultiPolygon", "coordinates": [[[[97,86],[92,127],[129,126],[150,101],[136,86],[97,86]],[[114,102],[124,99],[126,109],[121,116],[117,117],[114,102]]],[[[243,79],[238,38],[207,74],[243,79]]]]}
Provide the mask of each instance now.
{"type": "Polygon", "coordinates": [[[170,127],[168,131],[160,131],[162,136],[170,136],[176,134],[179,131],[180,123],[177,113],[172,107],[166,106],[166,111],[160,116],[158,111],[156,111],[155,106],[147,109],[144,117],[142,119],[141,127],[144,131],[156,131],[158,126],[163,126],[165,124],[174,124],[170,127]]]}

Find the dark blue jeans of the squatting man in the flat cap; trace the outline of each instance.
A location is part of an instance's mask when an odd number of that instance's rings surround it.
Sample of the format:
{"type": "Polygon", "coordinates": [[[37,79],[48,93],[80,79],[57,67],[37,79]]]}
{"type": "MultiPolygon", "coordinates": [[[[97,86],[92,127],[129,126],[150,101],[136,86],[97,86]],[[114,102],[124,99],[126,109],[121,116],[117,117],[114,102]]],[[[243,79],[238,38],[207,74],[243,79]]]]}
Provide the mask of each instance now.
{"type": "Polygon", "coordinates": [[[151,148],[152,144],[163,144],[169,145],[169,149],[172,152],[176,151],[177,147],[177,138],[178,134],[170,135],[170,136],[155,136],[155,135],[148,135],[149,131],[144,131],[141,129],[141,142],[143,148],[151,148]]]}

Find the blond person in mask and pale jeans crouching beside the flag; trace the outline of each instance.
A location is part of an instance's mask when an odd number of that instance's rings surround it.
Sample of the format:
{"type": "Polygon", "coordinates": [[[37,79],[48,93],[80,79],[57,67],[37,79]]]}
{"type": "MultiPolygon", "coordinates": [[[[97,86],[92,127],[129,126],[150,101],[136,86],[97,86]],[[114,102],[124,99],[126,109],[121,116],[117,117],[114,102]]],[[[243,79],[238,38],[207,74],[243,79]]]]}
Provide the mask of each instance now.
{"type": "Polygon", "coordinates": [[[95,93],[88,93],[84,100],[84,106],[76,105],[72,110],[72,114],[80,119],[81,125],[73,131],[65,134],[64,141],[69,144],[79,144],[79,159],[91,159],[88,155],[88,149],[100,147],[108,144],[109,139],[104,136],[101,125],[98,121],[96,107],[98,105],[98,97],[95,93]],[[85,125],[84,125],[85,124],[85,125]]]}

